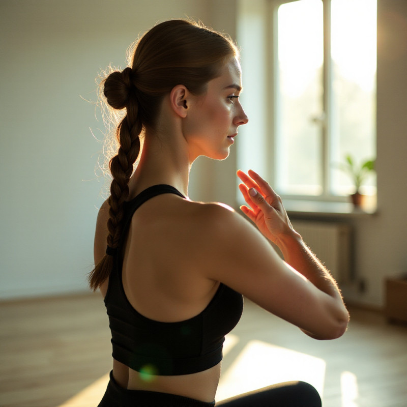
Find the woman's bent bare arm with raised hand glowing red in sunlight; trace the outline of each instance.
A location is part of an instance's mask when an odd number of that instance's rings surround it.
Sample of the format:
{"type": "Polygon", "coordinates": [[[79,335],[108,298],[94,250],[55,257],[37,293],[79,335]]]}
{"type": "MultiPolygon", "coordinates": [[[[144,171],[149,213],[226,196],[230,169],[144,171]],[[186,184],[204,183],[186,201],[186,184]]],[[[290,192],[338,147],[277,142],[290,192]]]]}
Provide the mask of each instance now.
{"type": "Polygon", "coordinates": [[[211,256],[201,254],[201,270],[315,339],[341,336],[349,316],[335,280],[293,229],[270,185],[254,171],[238,176],[249,205],[242,211],[280,248],[285,261],[242,216],[210,205],[200,249],[211,256]]]}

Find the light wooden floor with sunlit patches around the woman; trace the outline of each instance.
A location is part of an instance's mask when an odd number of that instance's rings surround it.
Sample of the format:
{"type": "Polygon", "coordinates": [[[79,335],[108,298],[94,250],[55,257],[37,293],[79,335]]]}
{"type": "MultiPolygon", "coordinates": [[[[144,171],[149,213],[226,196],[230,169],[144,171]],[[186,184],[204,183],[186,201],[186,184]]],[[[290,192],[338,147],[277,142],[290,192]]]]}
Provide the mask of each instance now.
{"type": "MultiPolygon", "coordinates": [[[[225,343],[217,399],[306,380],[325,407],[406,407],[407,327],[375,312],[351,317],[342,338],[316,341],[246,301],[225,343]]],[[[98,404],[111,368],[99,295],[0,303],[0,340],[0,406],[98,404]]]]}

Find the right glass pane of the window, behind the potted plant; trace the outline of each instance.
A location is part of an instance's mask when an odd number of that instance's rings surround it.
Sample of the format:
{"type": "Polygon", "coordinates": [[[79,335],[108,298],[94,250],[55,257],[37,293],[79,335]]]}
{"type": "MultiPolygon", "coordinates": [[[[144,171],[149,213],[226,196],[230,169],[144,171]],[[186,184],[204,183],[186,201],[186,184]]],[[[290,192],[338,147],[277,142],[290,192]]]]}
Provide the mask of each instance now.
{"type": "MultiPolygon", "coordinates": [[[[331,1],[333,163],[343,162],[347,154],[358,163],[376,155],[376,7],[376,0],[331,1]]],[[[335,165],[331,191],[355,192],[351,179],[335,165]]]]}

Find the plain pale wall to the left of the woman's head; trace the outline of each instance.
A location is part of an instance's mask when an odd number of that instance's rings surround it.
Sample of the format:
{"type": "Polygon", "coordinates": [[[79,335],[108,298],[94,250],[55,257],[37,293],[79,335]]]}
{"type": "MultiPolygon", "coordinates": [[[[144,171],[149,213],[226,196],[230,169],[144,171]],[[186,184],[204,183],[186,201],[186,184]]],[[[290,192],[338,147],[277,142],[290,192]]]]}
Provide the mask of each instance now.
{"type": "Polygon", "coordinates": [[[205,0],[0,2],[0,298],[86,289],[103,182],[95,78],[159,20],[205,0]]]}

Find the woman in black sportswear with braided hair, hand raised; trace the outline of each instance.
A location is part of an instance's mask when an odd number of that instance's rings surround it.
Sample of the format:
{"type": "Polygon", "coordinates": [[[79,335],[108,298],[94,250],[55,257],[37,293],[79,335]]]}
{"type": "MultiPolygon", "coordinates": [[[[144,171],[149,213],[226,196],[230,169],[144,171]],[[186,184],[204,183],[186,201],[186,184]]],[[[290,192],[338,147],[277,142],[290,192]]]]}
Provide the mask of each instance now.
{"type": "MultiPolygon", "coordinates": [[[[193,161],[225,159],[248,121],[236,46],[195,23],[163,22],[139,40],[131,67],[103,85],[126,116],[90,276],[112,332],[113,370],[99,406],[215,405],[222,343],[242,295],[311,337],[341,336],[348,314],[336,283],[263,179],[238,171],[242,211],[264,236],[231,208],[188,199],[193,161]]],[[[216,405],[320,404],[314,388],[294,382],[216,405]]]]}

